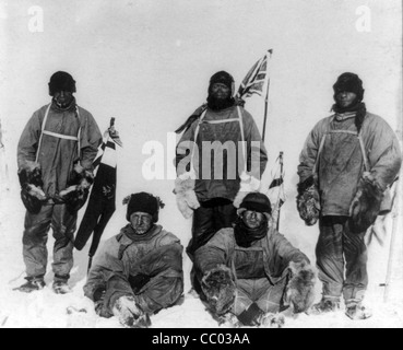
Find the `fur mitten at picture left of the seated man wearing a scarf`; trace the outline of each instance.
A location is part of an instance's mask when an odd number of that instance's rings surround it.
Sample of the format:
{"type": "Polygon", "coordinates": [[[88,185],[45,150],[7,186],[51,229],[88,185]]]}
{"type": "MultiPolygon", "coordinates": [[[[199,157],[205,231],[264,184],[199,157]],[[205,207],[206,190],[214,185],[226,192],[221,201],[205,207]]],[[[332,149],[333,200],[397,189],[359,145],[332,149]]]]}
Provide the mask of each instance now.
{"type": "Polygon", "coordinates": [[[220,265],[205,273],[201,288],[214,314],[224,315],[233,307],[236,287],[230,270],[225,265],[220,265]]]}

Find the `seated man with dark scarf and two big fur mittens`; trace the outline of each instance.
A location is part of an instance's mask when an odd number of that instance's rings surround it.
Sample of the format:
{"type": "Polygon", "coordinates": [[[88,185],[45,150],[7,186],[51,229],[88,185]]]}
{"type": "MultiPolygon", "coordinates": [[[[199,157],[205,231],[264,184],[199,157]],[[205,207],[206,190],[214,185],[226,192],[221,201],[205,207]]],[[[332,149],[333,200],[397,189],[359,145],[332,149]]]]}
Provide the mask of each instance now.
{"type": "Polygon", "coordinates": [[[313,302],[315,273],[305,254],[269,228],[271,203],[247,195],[234,229],[223,229],[195,253],[208,307],[218,322],[282,327],[283,314],[306,312],[313,302]]]}

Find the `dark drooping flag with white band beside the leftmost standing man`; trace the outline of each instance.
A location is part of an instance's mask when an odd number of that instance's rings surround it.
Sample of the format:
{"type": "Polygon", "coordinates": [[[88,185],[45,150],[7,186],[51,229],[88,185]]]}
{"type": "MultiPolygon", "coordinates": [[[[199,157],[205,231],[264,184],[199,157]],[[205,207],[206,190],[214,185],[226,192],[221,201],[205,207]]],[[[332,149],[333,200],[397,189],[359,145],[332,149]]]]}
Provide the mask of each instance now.
{"type": "Polygon", "coordinates": [[[116,210],[117,161],[115,144],[122,147],[122,143],[114,124],[115,118],[111,118],[110,127],[105,131],[103,143],[99,145],[98,154],[94,160],[93,165],[96,172],[94,185],[74,240],[74,247],[81,250],[93,233],[88,252],[88,269],[91,268],[92,257],[98,248],[100,236],[116,210]]]}

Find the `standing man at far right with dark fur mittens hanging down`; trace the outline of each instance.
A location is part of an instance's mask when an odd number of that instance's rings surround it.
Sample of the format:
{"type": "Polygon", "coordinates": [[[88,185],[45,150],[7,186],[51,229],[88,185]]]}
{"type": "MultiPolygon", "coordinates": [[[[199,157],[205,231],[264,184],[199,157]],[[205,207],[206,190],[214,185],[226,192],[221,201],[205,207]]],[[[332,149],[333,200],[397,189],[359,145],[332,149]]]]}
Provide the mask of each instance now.
{"type": "Polygon", "coordinates": [[[346,315],[365,319],[371,314],[361,303],[368,284],[364,236],[402,156],[390,126],[366,110],[358,75],[340,75],[333,89],[335,114],[316,125],[300,154],[297,203],[307,224],[319,219],[316,255],[323,295],[313,312],[339,310],[343,295],[346,315]]]}

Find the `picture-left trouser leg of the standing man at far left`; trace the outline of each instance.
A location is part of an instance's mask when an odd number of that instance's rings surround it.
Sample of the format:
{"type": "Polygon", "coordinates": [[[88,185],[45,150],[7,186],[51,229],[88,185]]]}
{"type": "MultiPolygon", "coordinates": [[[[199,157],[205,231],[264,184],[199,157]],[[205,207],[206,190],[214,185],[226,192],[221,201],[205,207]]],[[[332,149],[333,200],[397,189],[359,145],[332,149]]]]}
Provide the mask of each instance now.
{"type": "Polygon", "coordinates": [[[46,247],[52,206],[43,206],[38,214],[26,212],[23,233],[23,257],[27,278],[44,277],[48,261],[46,247]]]}

